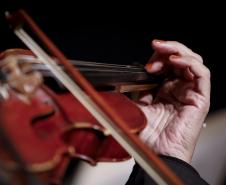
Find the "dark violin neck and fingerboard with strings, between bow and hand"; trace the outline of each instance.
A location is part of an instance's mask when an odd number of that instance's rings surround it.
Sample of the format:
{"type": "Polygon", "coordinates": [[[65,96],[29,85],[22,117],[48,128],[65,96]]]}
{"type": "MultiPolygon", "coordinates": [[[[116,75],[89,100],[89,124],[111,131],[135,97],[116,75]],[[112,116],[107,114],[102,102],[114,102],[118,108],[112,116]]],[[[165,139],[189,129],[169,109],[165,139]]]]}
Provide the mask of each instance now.
{"type": "MultiPolygon", "coordinates": [[[[146,72],[143,65],[118,65],[95,63],[80,60],[70,62],[98,89],[117,92],[150,90],[156,87],[162,77],[146,72]]],[[[35,69],[45,78],[53,77],[42,64],[35,64],[35,69]]]]}

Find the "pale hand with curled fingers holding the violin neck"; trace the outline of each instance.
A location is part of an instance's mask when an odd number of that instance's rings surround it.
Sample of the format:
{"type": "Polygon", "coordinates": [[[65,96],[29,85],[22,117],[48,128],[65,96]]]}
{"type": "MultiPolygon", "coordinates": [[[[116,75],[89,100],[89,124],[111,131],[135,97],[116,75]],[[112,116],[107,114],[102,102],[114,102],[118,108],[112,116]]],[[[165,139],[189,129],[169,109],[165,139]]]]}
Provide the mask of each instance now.
{"type": "Polygon", "coordinates": [[[139,136],[156,153],[190,163],[209,111],[210,71],[200,55],[179,42],[153,40],[152,47],[146,70],[172,77],[154,98],[141,99],[147,126],[139,136]]]}

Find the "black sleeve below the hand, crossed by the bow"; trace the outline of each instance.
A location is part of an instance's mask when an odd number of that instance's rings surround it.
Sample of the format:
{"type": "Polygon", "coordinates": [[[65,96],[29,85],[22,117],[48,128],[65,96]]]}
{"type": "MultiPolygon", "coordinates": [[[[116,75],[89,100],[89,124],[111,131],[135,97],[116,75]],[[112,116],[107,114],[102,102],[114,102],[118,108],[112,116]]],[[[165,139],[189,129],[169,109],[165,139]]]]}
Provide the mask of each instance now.
{"type": "MultiPolygon", "coordinates": [[[[200,177],[199,173],[188,163],[169,156],[160,156],[160,158],[186,185],[208,185],[208,183],[200,177]]],[[[135,164],[126,185],[156,185],[156,183],[138,164],[135,164]]]]}

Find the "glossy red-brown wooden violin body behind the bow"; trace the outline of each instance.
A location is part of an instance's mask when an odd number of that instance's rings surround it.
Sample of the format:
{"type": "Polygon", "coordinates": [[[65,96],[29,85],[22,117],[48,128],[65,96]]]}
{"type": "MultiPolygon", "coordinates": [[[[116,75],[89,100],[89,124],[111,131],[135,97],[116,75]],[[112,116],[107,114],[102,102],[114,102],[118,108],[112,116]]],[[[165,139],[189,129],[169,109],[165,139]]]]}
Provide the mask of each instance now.
{"type": "MultiPolygon", "coordinates": [[[[71,93],[57,93],[46,86],[42,75],[28,67],[28,61],[21,63],[21,55],[35,60],[27,50],[0,54],[4,76],[1,88],[5,92],[0,102],[0,120],[29,172],[37,174],[45,184],[58,184],[71,159],[95,165],[130,158],[71,93]]],[[[139,133],[145,127],[145,116],[129,98],[117,92],[99,93],[129,123],[131,133],[139,133]]],[[[0,146],[4,166],[18,170],[17,161],[0,146]]]]}

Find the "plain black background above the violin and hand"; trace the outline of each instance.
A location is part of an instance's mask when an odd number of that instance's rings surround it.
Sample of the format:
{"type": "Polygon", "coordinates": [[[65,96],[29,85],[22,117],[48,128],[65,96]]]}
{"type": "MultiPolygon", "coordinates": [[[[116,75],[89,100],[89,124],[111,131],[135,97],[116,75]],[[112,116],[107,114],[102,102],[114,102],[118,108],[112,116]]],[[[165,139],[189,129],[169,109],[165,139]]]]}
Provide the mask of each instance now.
{"type": "Polygon", "coordinates": [[[212,73],[211,111],[226,106],[225,13],[217,2],[3,1],[0,50],[25,46],[4,11],[25,9],[71,59],[145,64],[152,39],[177,40],[199,53],[212,73]],[[79,3],[78,3],[79,2],[79,3]],[[48,3],[48,4],[46,4],[48,3]]]}

